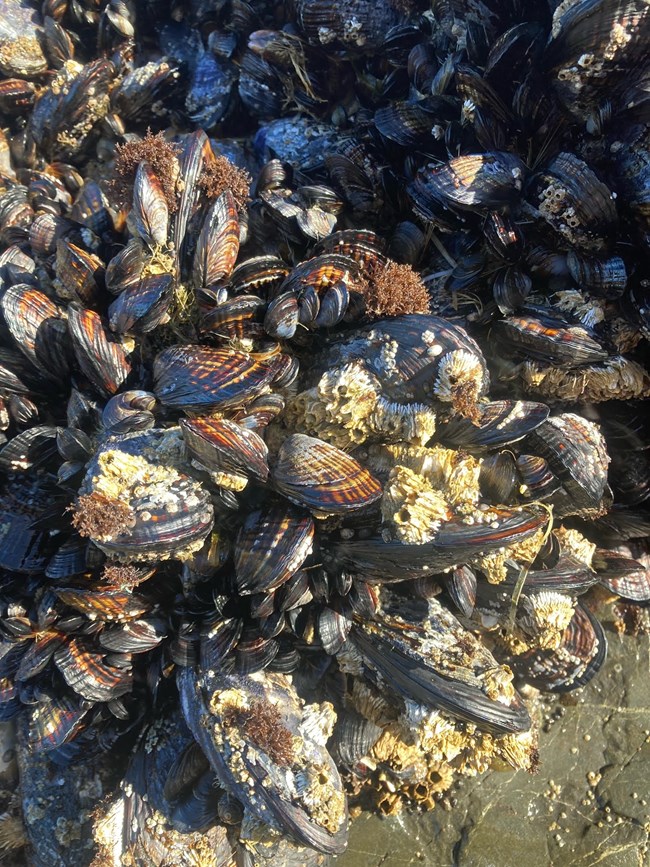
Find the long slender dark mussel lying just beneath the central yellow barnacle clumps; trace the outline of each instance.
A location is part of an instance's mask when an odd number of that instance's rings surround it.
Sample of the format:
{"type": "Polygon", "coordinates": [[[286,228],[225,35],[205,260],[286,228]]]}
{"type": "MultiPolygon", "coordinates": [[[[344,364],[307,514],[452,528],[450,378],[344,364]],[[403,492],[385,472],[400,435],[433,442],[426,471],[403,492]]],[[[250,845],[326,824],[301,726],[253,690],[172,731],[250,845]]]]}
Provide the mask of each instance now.
{"type": "Polygon", "coordinates": [[[444,523],[435,541],[423,545],[386,542],[382,537],[341,540],[323,551],[326,563],[362,575],[373,584],[418,578],[471,562],[472,557],[514,544],[541,530],[548,515],[536,509],[493,510],[495,520],[444,523]]]}

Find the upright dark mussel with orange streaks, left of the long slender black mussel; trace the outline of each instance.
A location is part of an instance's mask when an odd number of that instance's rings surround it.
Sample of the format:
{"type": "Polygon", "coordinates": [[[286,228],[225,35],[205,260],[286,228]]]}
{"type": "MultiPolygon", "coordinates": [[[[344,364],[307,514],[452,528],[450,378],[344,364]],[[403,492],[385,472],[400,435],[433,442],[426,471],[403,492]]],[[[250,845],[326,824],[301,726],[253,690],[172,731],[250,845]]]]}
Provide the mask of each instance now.
{"type": "Polygon", "coordinates": [[[235,574],[241,594],[276,590],[311,553],[314,522],[297,509],[273,506],[250,514],[235,543],[235,574]]]}

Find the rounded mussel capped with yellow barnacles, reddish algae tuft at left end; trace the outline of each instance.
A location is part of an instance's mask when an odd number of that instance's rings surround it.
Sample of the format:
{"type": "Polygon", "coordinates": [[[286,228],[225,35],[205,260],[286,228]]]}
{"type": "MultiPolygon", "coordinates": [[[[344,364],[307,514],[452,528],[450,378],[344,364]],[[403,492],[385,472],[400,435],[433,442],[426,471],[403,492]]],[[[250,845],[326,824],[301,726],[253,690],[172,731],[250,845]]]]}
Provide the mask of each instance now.
{"type": "Polygon", "coordinates": [[[188,558],[210,532],[213,509],[183,467],[177,428],[108,437],[79,489],[73,523],[119,560],[188,558]],[[114,524],[102,509],[115,515],[114,524]]]}

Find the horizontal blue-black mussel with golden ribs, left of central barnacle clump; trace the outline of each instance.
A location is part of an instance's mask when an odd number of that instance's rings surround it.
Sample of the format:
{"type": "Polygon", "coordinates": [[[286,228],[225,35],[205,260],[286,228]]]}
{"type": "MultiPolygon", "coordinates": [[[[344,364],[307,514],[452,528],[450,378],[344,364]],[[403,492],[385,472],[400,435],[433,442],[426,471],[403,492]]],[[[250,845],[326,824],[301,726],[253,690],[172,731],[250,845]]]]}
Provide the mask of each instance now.
{"type": "Polygon", "coordinates": [[[154,393],[175,409],[238,406],[264,391],[275,369],[236,349],[170,346],[154,361],[154,393]]]}

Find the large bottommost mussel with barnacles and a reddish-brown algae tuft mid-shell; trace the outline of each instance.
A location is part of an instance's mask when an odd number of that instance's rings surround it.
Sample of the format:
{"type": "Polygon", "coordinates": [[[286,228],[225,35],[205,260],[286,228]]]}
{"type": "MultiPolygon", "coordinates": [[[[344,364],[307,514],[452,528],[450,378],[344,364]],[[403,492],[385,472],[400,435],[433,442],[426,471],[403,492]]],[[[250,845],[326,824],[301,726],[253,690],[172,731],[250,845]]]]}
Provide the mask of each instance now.
{"type": "Polygon", "coordinates": [[[343,852],[347,806],[341,780],[324,740],[317,740],[318,722],[313,720],[314,729],[305,725],[308,709],[287,677],[199,677],[181,668],[178,687],[185,720],[221,785],[299,843],[343,852]]]}

